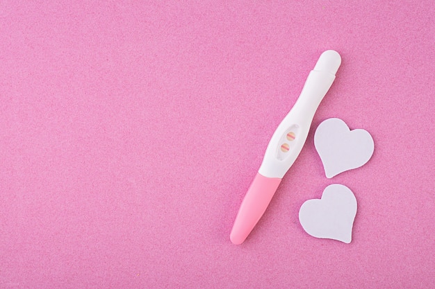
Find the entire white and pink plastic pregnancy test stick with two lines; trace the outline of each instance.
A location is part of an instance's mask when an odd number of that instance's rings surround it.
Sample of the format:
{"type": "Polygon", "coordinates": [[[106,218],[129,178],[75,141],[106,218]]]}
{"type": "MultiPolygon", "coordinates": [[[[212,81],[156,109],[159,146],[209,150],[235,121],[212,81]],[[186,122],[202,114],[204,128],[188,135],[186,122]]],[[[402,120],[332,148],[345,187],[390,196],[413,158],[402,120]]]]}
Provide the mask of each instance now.
{"type": "Polygon", "coordinates": [[[315,111],[334,82],[340,64],[340,55],[328,50],[309,73],[295,105],[270,139],[263,162],[240,205],[230,234],[232,243],[243,243],[263,216],[282,177],[301,152],[315,111]]]}

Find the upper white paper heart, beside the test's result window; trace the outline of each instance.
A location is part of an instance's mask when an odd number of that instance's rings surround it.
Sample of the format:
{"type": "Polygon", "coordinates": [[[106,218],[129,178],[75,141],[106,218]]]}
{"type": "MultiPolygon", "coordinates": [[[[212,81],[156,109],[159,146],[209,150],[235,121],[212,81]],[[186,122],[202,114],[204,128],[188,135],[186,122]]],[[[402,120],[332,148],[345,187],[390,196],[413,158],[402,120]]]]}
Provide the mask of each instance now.
{"type": "Polygon", "coordinates": [[[373,155],[375,143],[366,130],[350,130],[341,119],[327,119],[315,130],[314,146],[327,178],[359,168],[373,155]]]}

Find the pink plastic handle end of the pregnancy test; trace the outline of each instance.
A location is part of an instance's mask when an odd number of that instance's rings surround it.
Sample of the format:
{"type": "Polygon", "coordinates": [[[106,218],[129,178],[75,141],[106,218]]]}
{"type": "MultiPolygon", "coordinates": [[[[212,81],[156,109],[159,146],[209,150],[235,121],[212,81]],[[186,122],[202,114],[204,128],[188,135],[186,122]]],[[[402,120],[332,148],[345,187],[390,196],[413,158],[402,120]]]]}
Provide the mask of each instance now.
{"type": "Polygon", "coordinates": [[[281,179],[256,174],[238,210],[229,238],[240,245],[254,229],[277,191],[281,179]]]}

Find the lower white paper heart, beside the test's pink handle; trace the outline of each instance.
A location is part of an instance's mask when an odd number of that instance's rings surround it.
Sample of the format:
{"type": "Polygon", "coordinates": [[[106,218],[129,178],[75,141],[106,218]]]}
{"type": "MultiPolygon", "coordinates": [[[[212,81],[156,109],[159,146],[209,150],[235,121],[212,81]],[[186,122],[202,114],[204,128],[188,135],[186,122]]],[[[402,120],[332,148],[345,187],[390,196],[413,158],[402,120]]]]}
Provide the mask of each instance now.
{"type": "Polygon", "coordinates": [[[356,198],[347,186],[331,184],[322,199],[308,200],[299,210],[299,222],[315,238],[350,243],[356,215],[356,198]]]}

